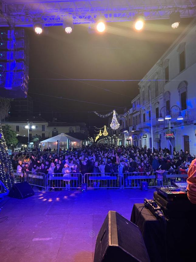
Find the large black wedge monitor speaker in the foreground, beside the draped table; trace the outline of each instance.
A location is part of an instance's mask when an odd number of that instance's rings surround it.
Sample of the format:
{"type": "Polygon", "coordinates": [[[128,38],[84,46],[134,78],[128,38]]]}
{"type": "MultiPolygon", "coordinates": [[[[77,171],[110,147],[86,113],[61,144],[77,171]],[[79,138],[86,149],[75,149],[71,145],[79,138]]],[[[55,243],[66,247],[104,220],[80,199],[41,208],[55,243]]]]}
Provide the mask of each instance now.
{"type": "Polygon", "coordinates": [[[150,262],[138,226],[109,211],[97,235],[94,262],[150,262]]]}

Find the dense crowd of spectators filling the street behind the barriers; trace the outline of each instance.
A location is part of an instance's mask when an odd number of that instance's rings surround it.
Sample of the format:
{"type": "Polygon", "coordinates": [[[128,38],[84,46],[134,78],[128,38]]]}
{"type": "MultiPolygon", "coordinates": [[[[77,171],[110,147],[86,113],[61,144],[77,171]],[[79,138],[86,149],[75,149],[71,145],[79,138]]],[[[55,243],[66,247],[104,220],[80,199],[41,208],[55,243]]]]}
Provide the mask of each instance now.
{"type": "MultiPolygon", "coordinates": [[[[181,171],[182,174],[187,174],[195,155],[191,156],[188,151],[181,150],[174,151],[173,156],[170,156],[167,148],[154,149],[152,152],[146,147],[95,144],[79,149],[61,150],[59,154],[51,150],[19,152],[11,158],[13,169],[17,172],[42,172],[46,175],[62,173],[64,176],[71,173],[96,173],[100,176],[118,173],[122,176],[124,173],[134,172],[150,175],[156,172],[157,183],[161,185],[165,171],[181,171]]],[[[66,183],[66,188],[70,188],[69,182],[66,183]]]]}

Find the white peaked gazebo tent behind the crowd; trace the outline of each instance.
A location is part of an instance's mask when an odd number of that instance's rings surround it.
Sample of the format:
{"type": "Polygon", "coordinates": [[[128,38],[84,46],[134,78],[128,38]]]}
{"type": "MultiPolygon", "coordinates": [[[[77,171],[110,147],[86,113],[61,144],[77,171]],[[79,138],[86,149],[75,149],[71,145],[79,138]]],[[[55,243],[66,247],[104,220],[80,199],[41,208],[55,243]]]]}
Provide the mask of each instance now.
{"type": "Polygon", "coordinates": [[[59,147],[63,149],[67,149],[69,147],[79,148],[82,147],[82,140],[77,139],[72,136],[68,136],[64,133],[61,133],[57,136],[50,137],[46,140],[41,141],[41,150],[44,148],[51,148],[52,150],[57,150],[57,141],[59,141],[59,147]]]}

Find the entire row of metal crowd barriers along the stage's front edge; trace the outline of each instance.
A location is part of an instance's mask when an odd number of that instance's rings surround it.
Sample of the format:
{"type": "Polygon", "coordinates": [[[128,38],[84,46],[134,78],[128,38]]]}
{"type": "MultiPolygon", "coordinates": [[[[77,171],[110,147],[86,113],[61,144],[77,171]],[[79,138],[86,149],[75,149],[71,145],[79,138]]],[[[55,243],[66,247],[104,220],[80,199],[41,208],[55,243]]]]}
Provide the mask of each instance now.
{"type": "Polygon", "coordinates": [[[163,173],[163,179],[157,179],[156,172],[146,175],[144,172],[124,173],[55,173],[44,174],[40,172],[24,172],[14,170],[16,182],[28,182],[32,186],[39,186],[45,191],[51,189],[80,189],[82,183],[85,183],[88,189],[95,188],[139,188],[141,182],[147,182],[148,187],[171,185],[172,181],[186,181],[187,175],[177,171],[175,174],[166,171],[163,173]]]}

